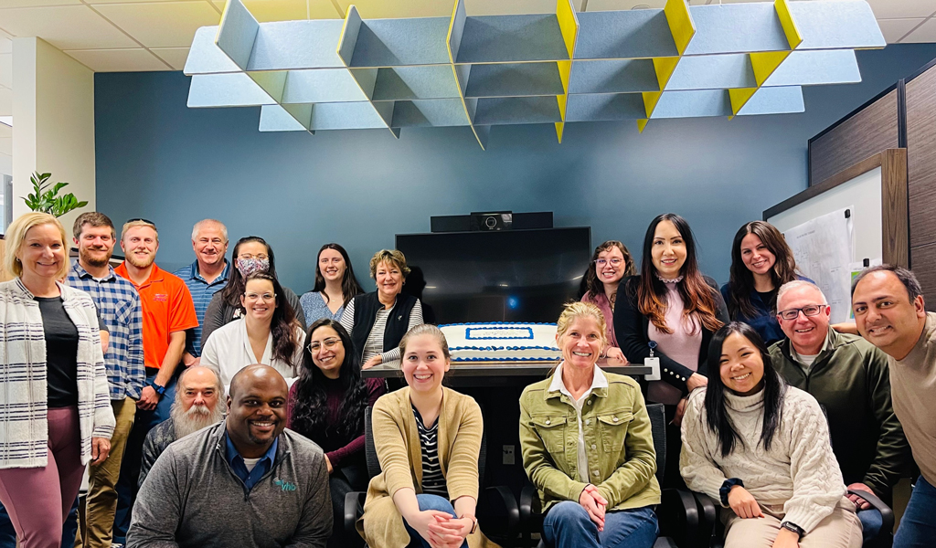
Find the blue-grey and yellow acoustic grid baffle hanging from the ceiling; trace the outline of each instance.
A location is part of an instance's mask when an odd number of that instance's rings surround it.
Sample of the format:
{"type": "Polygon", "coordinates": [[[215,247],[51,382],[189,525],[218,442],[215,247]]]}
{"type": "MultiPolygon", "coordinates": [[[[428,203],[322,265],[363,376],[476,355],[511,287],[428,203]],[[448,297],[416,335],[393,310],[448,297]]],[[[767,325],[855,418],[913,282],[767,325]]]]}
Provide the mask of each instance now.
{"type": "Polygon", "coordinates": [[[864,0],[262,23],[228,0],[184,73],[189,107],[259,106],[260,131],[466,126],[483,149],[492,125],[802,112],[885,45],[864,0]]]}

